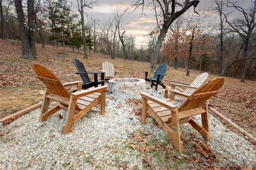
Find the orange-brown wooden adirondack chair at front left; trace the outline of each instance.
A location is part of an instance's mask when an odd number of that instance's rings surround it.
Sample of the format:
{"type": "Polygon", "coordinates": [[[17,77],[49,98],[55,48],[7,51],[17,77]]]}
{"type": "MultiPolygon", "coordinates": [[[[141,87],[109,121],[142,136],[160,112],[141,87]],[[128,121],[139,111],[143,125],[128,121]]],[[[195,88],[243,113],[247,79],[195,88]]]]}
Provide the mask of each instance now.
{"type": "Polygon", "coordinates": [[[100,102],[100,115],[105,114],[105,93],[108,86],[100,86],[87,90],[81,90],[82,81],[63,83],[48,68],[34,64],[37,78],[41,80],[46,90],[42,103],[39,121],[42,122],[60,109],[66,110],[67,116],[65,125],[62,126],[62,134],[70,133],[71,127],[80,120],[88,111],[100,102]],[[69,94],[65,86],[76,85],[78,91],[69,94]],[[99,93],[100,92],[100,93],[99,93]],[[58,102],[56,106],[49,109],[50,100],[58,102]]]}

